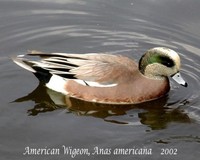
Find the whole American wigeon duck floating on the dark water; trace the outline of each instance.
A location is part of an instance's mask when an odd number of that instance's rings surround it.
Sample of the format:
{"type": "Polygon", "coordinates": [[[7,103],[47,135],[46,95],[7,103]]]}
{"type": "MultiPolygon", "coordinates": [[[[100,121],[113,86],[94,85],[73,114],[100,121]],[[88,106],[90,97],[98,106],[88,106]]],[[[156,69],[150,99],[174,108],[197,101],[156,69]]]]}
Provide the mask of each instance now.
{"type": "Polygon", "coordinates": [[[170,89],[169,76],[187,86],[179,73],[179,55],[164,47],[148,50],[139,65],[120,55],[39,51],[29,51],[13,61],[48,88],[92,102],[135,104],[160,98],[170,89]],[[40,59],[34,60],[36,56],[40,59]]]}

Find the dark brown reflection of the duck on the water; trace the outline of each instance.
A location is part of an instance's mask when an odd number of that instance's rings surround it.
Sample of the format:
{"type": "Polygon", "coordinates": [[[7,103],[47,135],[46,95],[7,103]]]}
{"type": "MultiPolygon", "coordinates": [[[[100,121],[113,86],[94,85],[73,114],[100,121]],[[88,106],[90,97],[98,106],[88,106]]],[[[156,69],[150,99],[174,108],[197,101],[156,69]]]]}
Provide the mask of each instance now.
{"type": "Polygon", "coordinates": [[[137,121],[140,124],[148,125],[151,129],[164,129],[171,122],[190,122],[190,118],[179,107],[167,105],[167,96],[136,105],[100,104],[69,98],[39,84],[33,92],[16,99],[14,102],[29,100],[35,102],[35,106],[27,111],[32,116],[59,108],[67,108],[69,112],[77,115],[98,117],[107,122],[126,125],[133,122],[124,121],[124,118],[120,117],[129,116],[130,120],[137,116],[137,121]]]}

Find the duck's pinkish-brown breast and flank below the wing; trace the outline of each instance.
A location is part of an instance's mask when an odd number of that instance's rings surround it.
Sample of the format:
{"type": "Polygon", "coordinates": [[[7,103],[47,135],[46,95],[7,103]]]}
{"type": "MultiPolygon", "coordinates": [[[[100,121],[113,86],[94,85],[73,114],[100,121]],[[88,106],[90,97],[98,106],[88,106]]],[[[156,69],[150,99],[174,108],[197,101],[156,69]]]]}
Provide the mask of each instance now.
{"type": "Polygon", "coordinates": [[[87,101],[127,104],[159,98],[170,89],[168,79],[148,79],[137,71],[122,78],[121,81],[124,83],[119,83],[116,86],[91,87],[74,80],[68,80],[65,90],[67,90],[68,95],[87,101]]]}

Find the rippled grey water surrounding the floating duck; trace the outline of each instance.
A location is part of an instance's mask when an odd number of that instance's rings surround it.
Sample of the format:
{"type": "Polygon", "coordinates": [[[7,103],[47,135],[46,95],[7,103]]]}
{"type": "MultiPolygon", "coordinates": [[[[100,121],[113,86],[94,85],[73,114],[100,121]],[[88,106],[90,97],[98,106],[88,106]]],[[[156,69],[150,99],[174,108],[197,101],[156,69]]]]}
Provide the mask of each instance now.
{"type": "Polygon", "coordinates": [[[91,152],[76,159],[196,159],[200,155],[199,8],[197,0],[0,0],[1,159],[70,159],[63,152],[23,155],[26,147],[62,151],[63,145],[91,152]],[[31,73],[8,58],[35,49],[108,52],[139,60],[156,46],[180,53],[189,86],[171,81],[166,97],[134,106],[74,99],[63,106],[62,95],[38,85],[31,73]],[[111,154],[92,155],[95,147],[111,154]],[[152,155],[113,153],[116,148],[145,147],[152,155]]]}

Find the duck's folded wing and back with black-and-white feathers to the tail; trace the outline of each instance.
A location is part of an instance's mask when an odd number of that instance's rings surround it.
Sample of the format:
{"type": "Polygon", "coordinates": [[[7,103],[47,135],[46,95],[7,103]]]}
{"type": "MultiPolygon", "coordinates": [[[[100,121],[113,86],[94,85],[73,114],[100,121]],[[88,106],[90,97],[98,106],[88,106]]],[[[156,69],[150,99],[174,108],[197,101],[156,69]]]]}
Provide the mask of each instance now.
{"type": "Polygon", "coordinates": [[[14,61],[32,72],[44,70],[66,79],[80,79],[101,84],[119,83],[122,78],[133,74],[137,69],[133,60],[118,55],[44,53],[39,51],[29,51],[27,55],[39,56],[40,59],[29,60],[20,56],[14,61]]]}

